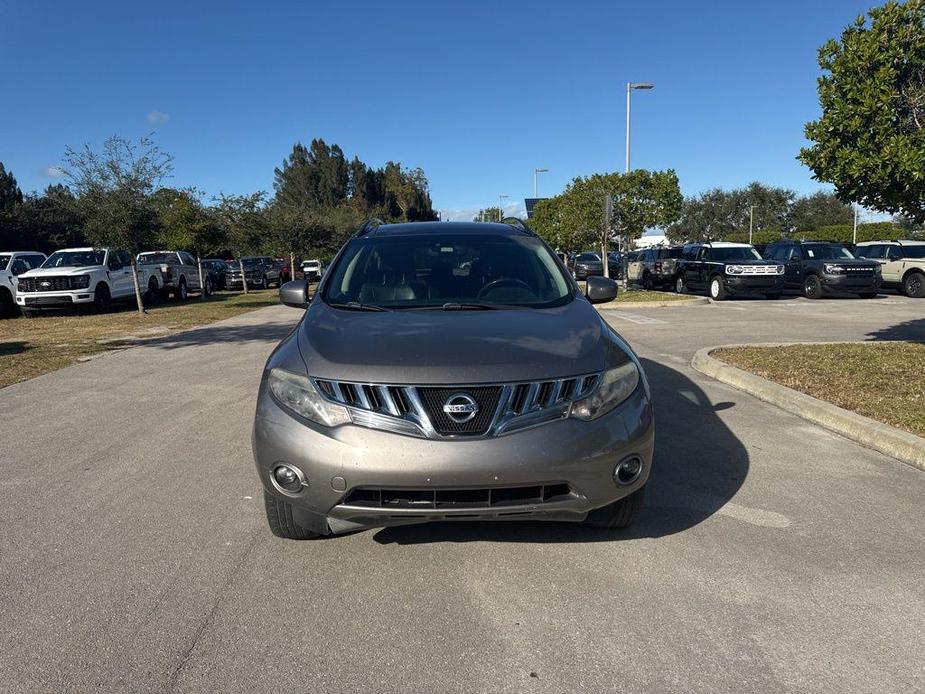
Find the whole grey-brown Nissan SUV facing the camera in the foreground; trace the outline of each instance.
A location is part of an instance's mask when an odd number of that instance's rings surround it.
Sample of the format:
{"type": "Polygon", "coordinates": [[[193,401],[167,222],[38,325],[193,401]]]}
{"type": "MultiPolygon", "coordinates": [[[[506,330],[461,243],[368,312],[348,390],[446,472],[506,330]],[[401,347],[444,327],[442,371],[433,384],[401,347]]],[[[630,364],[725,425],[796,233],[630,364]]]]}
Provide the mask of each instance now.
{"type": "Polygon", "coordinates": [[[448,520],[624,528],[655,438],[632,349],[520,220],[365,223],[270,355],[253,450],[279,537],[448,520]]]}

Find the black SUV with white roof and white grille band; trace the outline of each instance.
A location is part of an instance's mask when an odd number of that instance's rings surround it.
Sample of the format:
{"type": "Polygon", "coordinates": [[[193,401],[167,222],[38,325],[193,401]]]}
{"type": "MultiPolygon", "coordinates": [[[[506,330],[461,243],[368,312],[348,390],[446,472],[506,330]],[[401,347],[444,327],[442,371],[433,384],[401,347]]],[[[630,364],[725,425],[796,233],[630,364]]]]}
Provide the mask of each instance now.
{"type": "Polygon", "coordinates": [[[784,266],[764,260],[746,243],[691,243],[678,260],[675,290],[706,291],[714,301],[738,294],[777,299],[784,291],[784,266]]]}

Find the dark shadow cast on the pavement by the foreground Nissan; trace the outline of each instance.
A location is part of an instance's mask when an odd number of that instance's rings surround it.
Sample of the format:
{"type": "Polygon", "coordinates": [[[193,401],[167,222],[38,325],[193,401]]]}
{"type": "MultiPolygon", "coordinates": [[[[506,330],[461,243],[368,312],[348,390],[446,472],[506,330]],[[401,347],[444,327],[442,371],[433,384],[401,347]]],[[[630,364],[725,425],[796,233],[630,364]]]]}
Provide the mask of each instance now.
{"type": "Polygon", "coordinates": [[[717,416],[734,403],[711,403],[681,372],[643,359],[655,403],[655,459],[646,504],[626,530],[577,523],[437,522],[383,528],[381,544],[430,542],[611,542],[673,535],[722,508],[748,475],[748,451],[717,416]]]}

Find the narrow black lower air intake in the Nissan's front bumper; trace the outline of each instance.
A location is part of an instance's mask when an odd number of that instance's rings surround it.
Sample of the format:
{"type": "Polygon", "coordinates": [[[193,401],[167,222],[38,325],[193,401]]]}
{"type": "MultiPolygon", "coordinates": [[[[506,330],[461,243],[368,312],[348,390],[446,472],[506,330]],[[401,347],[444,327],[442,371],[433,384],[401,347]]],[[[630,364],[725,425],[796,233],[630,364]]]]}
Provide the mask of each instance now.
{"type": "Polygon", "coordinates": [[[346,506],[384,509],[489,509],[564,501],[571,495],[571,487],[564,483],[481,489],[362,487],[350,492],[343,503],[346,506]]]}

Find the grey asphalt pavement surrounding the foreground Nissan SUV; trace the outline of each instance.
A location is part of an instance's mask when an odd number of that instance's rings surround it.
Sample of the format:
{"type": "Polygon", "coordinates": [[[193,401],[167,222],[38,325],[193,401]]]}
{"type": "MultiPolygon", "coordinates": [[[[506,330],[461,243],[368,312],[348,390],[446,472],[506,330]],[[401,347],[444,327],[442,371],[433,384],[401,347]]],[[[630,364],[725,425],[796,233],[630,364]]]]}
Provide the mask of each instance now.
{"type": "Polygon", "coordinates": [[[657,408],[648,506],[623,533],[271,536],[250,424],[293,309],[0,391],[0,689],[922,691],[925,475],[689,362],[733,342],[925,340],[925,302],[606,315],[657,408]]]}

